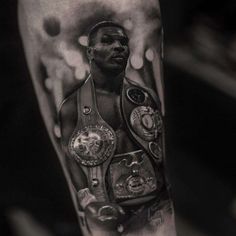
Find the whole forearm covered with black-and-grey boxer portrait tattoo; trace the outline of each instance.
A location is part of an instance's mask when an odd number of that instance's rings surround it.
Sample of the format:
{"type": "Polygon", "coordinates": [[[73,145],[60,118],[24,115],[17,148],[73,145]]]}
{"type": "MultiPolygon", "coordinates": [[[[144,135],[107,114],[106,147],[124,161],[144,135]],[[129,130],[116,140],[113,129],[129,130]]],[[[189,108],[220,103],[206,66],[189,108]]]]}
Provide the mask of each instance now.
{"type": "MultiPolygon", "coordinates": [[[[78,2],[74,22],[62,25],[59,4],[54,16],[42,17],[41,31],[39,21],[31,28],[40,53],[30,69],[81,230],[175,236],[164,172],[159,5],[150,1],[143,8],[135,1],[133,14],[126,0],[126,8],[78,2]]],[[[50,8],[43,4],[44,11],[50,8]]],[[[27,54],[27,30],[22,22],[20,27],[27,54]]]]}

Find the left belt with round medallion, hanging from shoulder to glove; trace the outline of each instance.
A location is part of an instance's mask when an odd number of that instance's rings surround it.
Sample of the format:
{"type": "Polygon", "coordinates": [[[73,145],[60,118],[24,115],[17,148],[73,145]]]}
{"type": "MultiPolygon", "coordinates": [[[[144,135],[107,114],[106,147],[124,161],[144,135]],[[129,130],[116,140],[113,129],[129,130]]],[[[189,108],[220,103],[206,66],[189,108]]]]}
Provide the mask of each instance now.
{"type": "Polygon", "coordinates": [[[80,164],[88,187],[98,201],[107,201],[105,175],[116,149],[113,129],[102,119],[89,77],[77,92],[77,125],[68,142],[68,152],[80,164]]]}

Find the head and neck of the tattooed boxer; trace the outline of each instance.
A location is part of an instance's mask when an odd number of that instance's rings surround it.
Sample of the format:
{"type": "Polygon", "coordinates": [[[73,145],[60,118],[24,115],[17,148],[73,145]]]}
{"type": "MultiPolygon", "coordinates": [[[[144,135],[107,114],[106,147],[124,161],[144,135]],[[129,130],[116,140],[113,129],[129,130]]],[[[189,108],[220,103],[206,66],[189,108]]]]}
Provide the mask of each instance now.
{"type": "Polygon", "coordinates": [[[118,93],[129,58],[128,38],[119,27],[109,26],[100,28],[93,42],[87,54],[95,86],[118,93]]]}

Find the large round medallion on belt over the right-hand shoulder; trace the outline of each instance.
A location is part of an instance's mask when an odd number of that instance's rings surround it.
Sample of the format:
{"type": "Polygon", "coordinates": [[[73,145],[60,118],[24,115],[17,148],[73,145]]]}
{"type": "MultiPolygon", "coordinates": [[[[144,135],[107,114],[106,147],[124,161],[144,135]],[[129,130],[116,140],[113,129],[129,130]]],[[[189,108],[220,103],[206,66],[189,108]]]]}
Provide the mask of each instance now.
{"type": "Polygon", "coordinates": [[[136,107],[130,115],[130,123],[135,133],[146,141],[157,138],[162,129],[160,113],[149,106],[136,107]]]}

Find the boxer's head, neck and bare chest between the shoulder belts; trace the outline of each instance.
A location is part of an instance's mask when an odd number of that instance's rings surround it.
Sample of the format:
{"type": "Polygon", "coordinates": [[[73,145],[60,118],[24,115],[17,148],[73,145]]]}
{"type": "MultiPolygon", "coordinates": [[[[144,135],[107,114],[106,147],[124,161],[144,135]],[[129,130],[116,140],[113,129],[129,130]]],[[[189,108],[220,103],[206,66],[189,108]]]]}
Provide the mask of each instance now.
{"type": "MultiPolygon", "coordinates": [[[[120,89],[125,76],[125,68],[129,58],[128,38],[119,27],[100,28],[88,47],[91,77],[93,78],[99,113],[102,118],[117,131],[121,124],[120,89]],[[106,106],[104,106],[106,104],[106,106]]],[[[126,136],[126,145],[118,145],[117,152],[136,150],[135,144],[127,138],[124,130],[119,129],[126,136]],[[122,146],[122,150],[119,150],[122,146]],[[125,149],[125,150],[124,150],[125,149]]]]}

